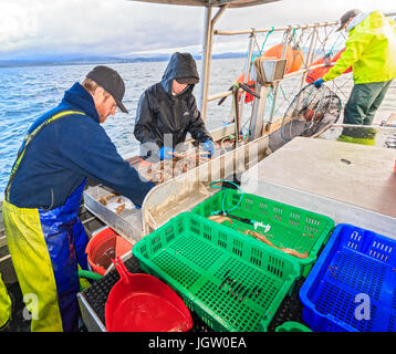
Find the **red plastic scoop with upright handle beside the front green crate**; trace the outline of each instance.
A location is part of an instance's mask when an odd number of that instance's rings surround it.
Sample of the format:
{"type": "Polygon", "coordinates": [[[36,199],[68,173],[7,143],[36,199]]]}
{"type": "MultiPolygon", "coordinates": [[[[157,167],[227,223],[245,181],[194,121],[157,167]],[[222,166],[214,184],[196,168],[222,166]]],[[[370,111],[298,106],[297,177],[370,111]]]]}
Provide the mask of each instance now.
{"type": "Polygon", "coordinates": [[[119,258],[113,260],[119,280],[105,304],[107,332],[186,332],[192,319],[184,301],[159,279],[129,273],[119,258]]]}

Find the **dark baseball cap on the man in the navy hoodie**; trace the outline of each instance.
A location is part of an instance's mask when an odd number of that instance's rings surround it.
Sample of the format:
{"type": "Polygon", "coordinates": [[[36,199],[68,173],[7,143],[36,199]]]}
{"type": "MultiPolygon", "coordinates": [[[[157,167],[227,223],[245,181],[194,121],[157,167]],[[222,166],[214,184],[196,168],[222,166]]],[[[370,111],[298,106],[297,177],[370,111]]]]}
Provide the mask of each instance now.
{"type": "Polygon", "coordinates": [[[126,110],[122,103],[125,94],[125,84],[115,70],[108,66],[97,65],[86,74],[86,77],[106,90],[117,103],[118,108],[124,113],[128,113],[128,110],[126,110]]]}

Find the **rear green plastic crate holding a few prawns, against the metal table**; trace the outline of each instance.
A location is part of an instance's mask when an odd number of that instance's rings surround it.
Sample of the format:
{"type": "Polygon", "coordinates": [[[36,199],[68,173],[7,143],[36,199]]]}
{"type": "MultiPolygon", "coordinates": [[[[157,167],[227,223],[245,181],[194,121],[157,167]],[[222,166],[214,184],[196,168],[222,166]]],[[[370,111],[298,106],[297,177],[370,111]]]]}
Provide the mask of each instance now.
{"type": "MultiPolygon", "coordinates": [[[[199,204],[191,211],[207,218],[222,211],[222,209],[226,211],[231,210],[229,212],[231,216],[270,226],[267,232],[267,235],[269,235],[268,240],[274,246],[291,248],[301,253],[306,251],[309,257],[304,259],[286,254],[286,257],[300,264],[300,272],[303,277],[310,273],[322,244],[329,240],[334,229],[334,221],[326,216],[256,195],[240,194],[235,189],[220,190],[199,204]]],[[[225,221],[221,225],[240,232],[250,229],[265,233],[265,227],[258,226],[257,229],[254,229],[254,225],[237,219],[232,219],[232,225],[229,221],[225,221]]],[[[267,244],[265,247],[272,248],[267,244]]],[[[277,252],[284,253],[280,250],[277,250],[277,252]]]]}

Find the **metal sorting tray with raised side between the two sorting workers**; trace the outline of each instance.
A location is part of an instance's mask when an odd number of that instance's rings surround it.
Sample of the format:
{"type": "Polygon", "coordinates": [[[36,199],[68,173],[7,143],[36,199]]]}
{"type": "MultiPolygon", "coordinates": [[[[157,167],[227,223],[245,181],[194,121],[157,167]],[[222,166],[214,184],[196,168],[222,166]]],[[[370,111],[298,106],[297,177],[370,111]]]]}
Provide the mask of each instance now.
{"type": "Polygon", "coordinates": [[[216,192],[217,189],[210,187],[212,180],[232,178],[264,158],[269,154],[268,145],[269,139],[263,136],[230,152],[220,152],[209,162],[158,184],[145,197],[142,209],[136,209],[124,196],[115,196],[106,205],[101,204],[100,198],[113,192],[102,185],[84,190],[84,204],[98,219],[135,243],[216,192]],[[122,201],[118,202],[118,198],[122,201]],[[124,210],[116,211],[121,204],[125,204],[124,210]]]}

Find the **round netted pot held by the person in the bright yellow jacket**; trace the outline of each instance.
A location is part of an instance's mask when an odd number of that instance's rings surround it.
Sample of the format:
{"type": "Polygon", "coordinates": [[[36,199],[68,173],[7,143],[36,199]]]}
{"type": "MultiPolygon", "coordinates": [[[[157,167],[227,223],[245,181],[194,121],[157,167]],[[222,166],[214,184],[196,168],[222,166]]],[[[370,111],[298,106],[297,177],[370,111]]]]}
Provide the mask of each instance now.
{"type": "Polygon", "coordinates": [[[310,84],[298,93],[284,112],[281,136],[284,140],[295,136],[312,136],[337,122],[340,114],[340,97],[325,85],[316,88],[310,84]]]}

